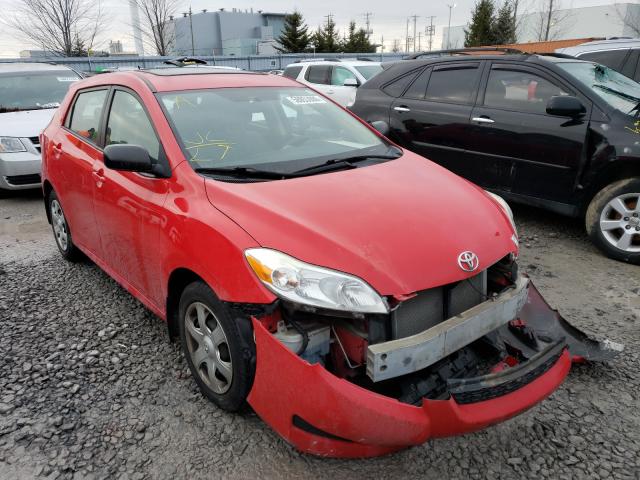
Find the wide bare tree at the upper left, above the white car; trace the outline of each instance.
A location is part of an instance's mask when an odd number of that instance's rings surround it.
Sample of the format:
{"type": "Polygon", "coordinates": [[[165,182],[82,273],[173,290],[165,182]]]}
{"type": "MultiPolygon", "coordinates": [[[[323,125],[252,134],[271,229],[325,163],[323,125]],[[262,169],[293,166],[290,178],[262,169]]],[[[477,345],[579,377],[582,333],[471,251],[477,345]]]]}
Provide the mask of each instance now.
{"type": "Polygon", "coordinates": [[[93,48],[103,20],[100,0],[21,0],[4,23],[43,50],[71,57],[93,48]]]}

